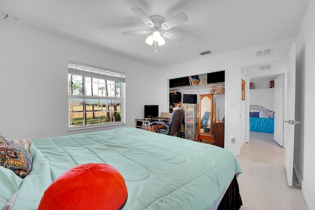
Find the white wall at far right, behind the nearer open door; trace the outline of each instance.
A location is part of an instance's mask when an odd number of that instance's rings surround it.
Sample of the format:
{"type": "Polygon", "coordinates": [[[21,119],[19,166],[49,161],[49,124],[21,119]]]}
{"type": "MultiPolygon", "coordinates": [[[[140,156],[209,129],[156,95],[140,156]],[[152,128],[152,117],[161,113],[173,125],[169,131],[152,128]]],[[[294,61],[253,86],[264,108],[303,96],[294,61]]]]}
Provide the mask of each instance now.
{"type": "Polygon", "coordinates": [[[315,0],[310,0],[297,37],[294,161],[309,210],[315,209],[315,0]]]}

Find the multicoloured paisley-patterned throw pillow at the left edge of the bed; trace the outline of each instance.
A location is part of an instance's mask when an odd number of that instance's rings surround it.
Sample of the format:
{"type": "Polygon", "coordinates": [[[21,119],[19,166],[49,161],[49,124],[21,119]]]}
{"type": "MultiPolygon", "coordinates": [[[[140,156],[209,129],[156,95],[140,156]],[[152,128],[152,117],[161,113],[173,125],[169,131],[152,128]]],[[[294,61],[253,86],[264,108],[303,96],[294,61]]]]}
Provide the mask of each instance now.
{"type": "Polygon", "coordinates": [[[32,156],[28,150],[12,140],[0,135],[0,166],[12,170],[25,178],[32,169],[32,156]]]}

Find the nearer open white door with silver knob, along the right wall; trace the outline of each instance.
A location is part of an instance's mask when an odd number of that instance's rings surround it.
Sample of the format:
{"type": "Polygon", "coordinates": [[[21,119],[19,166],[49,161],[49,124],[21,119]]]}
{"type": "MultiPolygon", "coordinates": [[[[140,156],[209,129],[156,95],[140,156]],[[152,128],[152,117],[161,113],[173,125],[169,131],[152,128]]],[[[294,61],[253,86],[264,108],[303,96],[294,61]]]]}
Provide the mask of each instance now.
{"type": "Polygon", "coordinates": [[[292,186],[293,180],[293,151],[295,126],[295,62],[296,47],[292,44],[287,58],[286,93],[284,100],[284,144],[285,172],[287,184],[292,186]]]}

